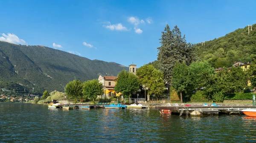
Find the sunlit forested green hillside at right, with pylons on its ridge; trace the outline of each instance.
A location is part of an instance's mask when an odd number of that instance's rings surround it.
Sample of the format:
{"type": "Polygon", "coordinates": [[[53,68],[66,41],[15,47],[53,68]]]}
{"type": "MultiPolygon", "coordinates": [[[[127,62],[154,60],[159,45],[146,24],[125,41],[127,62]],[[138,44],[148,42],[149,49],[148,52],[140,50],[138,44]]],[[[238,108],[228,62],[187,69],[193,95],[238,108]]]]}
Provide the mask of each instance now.
{"type": "Polygon", "coordinates": [[[235,61],[256,62],[256,24],[239,28],[218,39],[196,44],[196,55],[212,67],[228,67],[235,61]]]}

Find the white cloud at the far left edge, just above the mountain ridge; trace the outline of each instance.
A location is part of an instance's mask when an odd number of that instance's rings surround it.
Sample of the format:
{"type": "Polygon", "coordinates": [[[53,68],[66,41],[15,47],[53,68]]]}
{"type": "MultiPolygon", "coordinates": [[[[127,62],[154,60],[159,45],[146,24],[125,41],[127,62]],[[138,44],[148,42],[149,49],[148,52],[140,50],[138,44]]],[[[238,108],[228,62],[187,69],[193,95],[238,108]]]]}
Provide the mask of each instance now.
{"type": "Polygon", "coordinates": [[[6,42],[10,42],[10,43],[14,43],[14,44],[22,44],[22,45],[28,45],[26,43],[26,41],[24,41],[23,39],[20,39],[18,36],[16,36],[15,34],[10,34],[8,33],[6,34],[1,34],[2,36],[0,36],[0,41],[6,41],[6,42]]]}

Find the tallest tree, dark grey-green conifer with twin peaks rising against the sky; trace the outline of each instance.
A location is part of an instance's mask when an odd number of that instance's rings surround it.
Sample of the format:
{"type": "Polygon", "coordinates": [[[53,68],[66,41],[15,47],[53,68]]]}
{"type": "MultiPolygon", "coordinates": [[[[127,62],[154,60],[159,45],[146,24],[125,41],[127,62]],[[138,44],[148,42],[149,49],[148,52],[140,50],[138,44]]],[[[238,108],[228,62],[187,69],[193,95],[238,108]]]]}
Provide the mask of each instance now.
{"type": "Polygon", "coordinates": [[[182,36],[177,25],[170,30],[166,25],[160,39],[161,46],[158,49],[157,60],[160,71],[164,74],[165,81],[170,85],[172,81],[172,69],[177,62],[189,65],[195,59],[194,45],[186,43],[185,35],[182,36]]]}

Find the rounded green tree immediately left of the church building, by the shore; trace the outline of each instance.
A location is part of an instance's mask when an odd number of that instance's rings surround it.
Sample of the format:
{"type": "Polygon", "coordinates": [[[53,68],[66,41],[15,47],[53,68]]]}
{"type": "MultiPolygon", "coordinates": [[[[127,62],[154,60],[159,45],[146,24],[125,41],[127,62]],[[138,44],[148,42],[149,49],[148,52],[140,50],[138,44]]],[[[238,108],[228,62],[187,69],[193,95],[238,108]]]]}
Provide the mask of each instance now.
{"type": "Polygon", "coordinates": [[[93,102],[99,95],[103,95],[103,85],[97,79],[84,82],[83,95],[84,98],[89,98],[93,102]]]}

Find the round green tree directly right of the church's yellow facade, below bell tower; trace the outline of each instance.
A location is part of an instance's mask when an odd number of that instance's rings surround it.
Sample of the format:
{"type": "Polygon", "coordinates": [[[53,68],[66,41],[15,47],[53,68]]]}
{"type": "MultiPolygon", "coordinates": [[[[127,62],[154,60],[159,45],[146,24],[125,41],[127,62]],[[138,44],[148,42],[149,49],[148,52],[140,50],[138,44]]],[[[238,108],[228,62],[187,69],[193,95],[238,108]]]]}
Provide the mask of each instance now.
{"type": "Polygon", "coordinates": [[[129,73],[126,70],[119,72],[116,79],[116,86],[114,87],[114,90],[117,93],[121,92],[123,95],[128,96],[137,91],[139,88],[140,83],[137,76],[135,76],[133,73],[129,73]]]}

